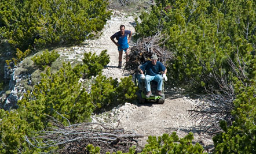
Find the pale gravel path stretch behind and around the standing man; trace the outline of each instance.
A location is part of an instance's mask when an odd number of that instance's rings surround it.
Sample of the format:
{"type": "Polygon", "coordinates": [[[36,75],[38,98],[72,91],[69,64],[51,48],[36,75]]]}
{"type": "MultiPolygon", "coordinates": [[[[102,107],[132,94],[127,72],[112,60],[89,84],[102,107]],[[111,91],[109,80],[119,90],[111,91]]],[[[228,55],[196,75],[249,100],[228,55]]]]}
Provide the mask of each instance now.
{"type": "MultiPolygon", "coordinates": [[[[85,50],[96,52],[96,54],[100,54],[102,50],[107,50],[108,55],[110,57],[110,62],[108,63],[107,67],[103,70],[103,75],[107,77],[114,77],[123,78],[125,76],[129,76],[129,72],[124,72],[123,67],[119,69],[118,66],[118,47],[112,42],[110,37],[115,33],[120,31],[120,25],[125,25],[126,30],[130,30],[134,33],[134,18],[128,16],[127,14],[123,13],[120,14],[119,12],[115,11],[111,17],[111,20],[107,21],[105,28],[103,29],[103,33],[97,40],[86,40],[86,44],[89,44],[85,50]]],[[[129,46],[133,46],[133,38],[131,38],[131,42],[129,46]]],[[[123,65],[125,64],[125,52],[123,52],[123,65]]]]}

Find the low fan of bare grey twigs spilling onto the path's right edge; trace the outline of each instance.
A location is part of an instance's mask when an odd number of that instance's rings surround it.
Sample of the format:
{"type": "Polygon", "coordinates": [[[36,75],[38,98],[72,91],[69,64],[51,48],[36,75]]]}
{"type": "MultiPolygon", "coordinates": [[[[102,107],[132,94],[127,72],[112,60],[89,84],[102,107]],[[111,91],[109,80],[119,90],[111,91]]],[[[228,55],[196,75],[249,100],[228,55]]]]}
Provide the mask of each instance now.
{"type": "Polygon", "coordinates": [[[192,110],[188,110],[188,117],[198,122],[202,130],[213,133],[221,130],[219,122],[221,120],[232,123],[231,111],[233,100],[225,95],[198,95],[200,99],[195,102],[192,110]]]}

